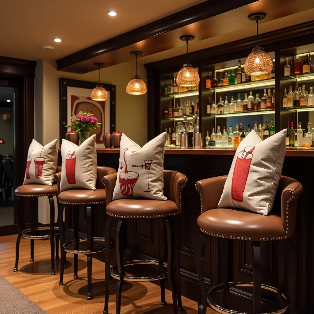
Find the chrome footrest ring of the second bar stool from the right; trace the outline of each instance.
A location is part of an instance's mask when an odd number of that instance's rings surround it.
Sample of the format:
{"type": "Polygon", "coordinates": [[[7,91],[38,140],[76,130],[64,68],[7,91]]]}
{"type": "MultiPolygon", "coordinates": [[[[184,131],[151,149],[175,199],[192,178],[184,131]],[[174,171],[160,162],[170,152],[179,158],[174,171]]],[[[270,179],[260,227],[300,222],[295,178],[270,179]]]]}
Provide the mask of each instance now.
{"type": "MultiPolygon", "coordinates": [[[[124,267],[131,266],[131,265],[159,265],[159,261],[154,260],[136,260],[136,261],[128,261],[123,263],[124,267]]],[[[163,267],[167,268],[167,263],[163,263],[163,267]]],[[[118,267],[112,266],[110,268],[110,274],[114,279],[120,279],[120,275],[118,274],[118,267]]],[[[125,281],[154,281],[160,280],[167,277],[167,271],[164,273],[160,273],[154,276],[146,276],[146,277],[135,277],[135,276],[123,276],[123,280],[125,281]]]]}

